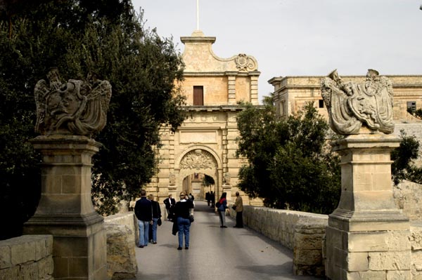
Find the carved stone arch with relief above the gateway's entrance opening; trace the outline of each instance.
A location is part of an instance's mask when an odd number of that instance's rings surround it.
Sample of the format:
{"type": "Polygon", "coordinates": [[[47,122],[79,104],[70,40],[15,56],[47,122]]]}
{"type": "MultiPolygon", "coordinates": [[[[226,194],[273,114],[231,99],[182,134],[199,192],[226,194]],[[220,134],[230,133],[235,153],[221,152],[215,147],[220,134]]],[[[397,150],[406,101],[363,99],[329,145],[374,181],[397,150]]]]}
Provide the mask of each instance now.
{"type": "Polygon", "coordinates": [[[221,194],[222,163],[212,149],[205,146],[190,147],[179,156],[174,166],[177,192],[184,190],[182,189],[184,178],[193,173],[203,173],[212,177],[215,181],[216,194],[221,194]]]}

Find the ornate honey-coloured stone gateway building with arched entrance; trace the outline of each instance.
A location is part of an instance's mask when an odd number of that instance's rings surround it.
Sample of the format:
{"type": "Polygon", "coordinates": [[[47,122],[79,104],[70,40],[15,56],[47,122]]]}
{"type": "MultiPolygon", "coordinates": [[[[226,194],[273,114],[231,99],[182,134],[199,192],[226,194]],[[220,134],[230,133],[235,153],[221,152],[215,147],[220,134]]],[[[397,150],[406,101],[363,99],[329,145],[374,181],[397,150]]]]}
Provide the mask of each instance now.
{"type": "MultiPolygon", "coordinates": [[[[238,102],[258,105],[257,60],[243,53],[219,58],[212,51],[215,37],[196,30],[181,37],[185,63],[181,91],[186,95],[188,119],[176,132],[162,127],[162,147],[158,150],[158,174],[148,185],[162,201],[182,190],[205,199],[206,192],[216,198],[227,193],[231,200],[238,191],[238,170],[246,159],[238,158],[236,114],[238,102]],[[210,176],[215,185],[204,187],[202,178],[210,176]]],[[[248,197],[245,196],[245,203],[248,197]]]]}

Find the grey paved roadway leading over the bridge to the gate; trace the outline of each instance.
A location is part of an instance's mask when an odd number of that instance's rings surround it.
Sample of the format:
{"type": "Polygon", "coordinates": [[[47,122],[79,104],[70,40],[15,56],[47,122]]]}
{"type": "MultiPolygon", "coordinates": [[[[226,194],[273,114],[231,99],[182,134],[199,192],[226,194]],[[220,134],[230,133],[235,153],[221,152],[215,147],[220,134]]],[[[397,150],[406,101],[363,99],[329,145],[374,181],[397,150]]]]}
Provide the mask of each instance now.
{"type": "MultiPolygon", "coordinates": [[[[219,217],[203,201],[196,201],[189,250],[178,251],[172,222],[158,227],[157,244],[136,248],[136,280],[286,280],[318,279],[293,276],[293,253],[252,229],[219,227],[219,217]]],[[[321,279],[320,279],[321,280],[321,279]]]]}

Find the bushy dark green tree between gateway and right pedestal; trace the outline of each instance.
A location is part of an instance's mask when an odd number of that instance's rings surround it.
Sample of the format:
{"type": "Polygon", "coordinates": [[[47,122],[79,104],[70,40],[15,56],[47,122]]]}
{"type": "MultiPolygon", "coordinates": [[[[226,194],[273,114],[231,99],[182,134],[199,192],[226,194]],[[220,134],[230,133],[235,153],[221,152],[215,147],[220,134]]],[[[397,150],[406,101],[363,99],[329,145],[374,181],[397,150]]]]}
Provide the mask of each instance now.
{"type": "Polygon", "coordinates": [[[270,96],[263,107],[245,105],[238,114],[238,129],[238,154],[250,163],[239,174],[243,191],[273,208],[314,213],[335,209],[340,199],[339,157],[328,147],[328,124],[312,103],[279,119],[270,96]]]}

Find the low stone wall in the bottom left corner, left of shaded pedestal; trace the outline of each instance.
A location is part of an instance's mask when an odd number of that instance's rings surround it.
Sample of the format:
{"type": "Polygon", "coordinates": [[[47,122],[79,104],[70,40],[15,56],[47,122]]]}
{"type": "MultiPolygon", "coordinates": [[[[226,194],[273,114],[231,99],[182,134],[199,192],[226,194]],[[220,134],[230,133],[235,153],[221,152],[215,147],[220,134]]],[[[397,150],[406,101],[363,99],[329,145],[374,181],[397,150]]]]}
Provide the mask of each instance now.
{"type": "Polygon", "coordinates": [[[0,241],[0,280],[53,280],[53,236],[0,241]]]}

